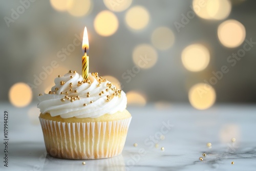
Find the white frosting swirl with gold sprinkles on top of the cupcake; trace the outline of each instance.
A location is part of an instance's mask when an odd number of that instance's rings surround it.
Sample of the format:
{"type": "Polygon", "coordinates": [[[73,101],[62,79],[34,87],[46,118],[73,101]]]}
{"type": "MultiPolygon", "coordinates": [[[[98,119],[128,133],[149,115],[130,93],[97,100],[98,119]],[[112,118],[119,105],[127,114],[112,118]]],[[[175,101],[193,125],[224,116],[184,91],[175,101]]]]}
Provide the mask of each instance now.
{"type": "Polygon", "coordinates": [[[55,78],[51,92],[38,96],[40,102],[37,108],[42,114],[50,113],[52,117],[60,115],[61,118],[97,118],[126,108],[127,98],[123,91],[116,90],[110,81],[104,81],[96,73],[94,76],[89,73],[88,78],[91,83],[85,82],[76,72],[55,78]],[[62,85],[61,81],[64,82],[62,85]]]}

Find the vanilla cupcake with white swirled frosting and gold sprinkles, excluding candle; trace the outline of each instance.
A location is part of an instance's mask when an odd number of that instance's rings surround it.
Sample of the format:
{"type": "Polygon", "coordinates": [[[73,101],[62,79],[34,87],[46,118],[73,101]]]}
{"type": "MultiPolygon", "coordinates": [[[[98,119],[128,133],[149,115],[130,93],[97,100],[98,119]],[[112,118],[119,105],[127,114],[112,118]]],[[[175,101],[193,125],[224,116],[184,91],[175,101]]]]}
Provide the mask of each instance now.
{"type": "Polygon", "coordinates": [[[39,120],[47,153],[63,159],[101,159],[121,154],[132,119],[126,95],[98,73],[75,71],[39,95],[39,120]]]}

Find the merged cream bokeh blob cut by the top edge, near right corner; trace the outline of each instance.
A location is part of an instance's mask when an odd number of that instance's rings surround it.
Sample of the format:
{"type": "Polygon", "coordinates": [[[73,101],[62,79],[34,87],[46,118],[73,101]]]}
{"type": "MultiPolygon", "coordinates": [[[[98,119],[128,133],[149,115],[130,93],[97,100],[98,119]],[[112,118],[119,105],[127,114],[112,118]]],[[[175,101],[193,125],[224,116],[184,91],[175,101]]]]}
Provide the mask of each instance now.
{"type": "Polygon", "coordinates": [[[204,19],[224,19],[231,11],[229,0],[194,0],[195,13],[204,19]]]}

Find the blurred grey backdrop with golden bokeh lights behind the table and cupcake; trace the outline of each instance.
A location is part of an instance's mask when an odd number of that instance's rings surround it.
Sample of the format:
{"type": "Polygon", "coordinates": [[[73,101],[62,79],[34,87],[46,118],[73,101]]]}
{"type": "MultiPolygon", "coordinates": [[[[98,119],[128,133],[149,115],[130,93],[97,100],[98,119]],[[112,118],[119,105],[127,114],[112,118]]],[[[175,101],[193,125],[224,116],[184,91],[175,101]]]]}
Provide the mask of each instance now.
{"type": "Polygon", "coordinates": [[[90,72],[129,105],[256,102],[256,1],[0,0],[1,101],[24,107],[54,78],[90,72]]]}

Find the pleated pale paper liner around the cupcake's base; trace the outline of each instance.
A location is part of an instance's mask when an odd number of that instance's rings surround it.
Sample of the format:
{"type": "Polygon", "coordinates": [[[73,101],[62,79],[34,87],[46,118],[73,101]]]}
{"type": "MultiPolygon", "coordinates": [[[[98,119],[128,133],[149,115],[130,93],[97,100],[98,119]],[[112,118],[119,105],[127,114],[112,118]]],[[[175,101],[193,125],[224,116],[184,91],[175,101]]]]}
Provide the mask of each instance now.
{"type": "Polygon", "coordinates": [[[70,123],[39,117],[48,154],[64,159],[100,159],[119,155],[131,119],[70,123]]]}

